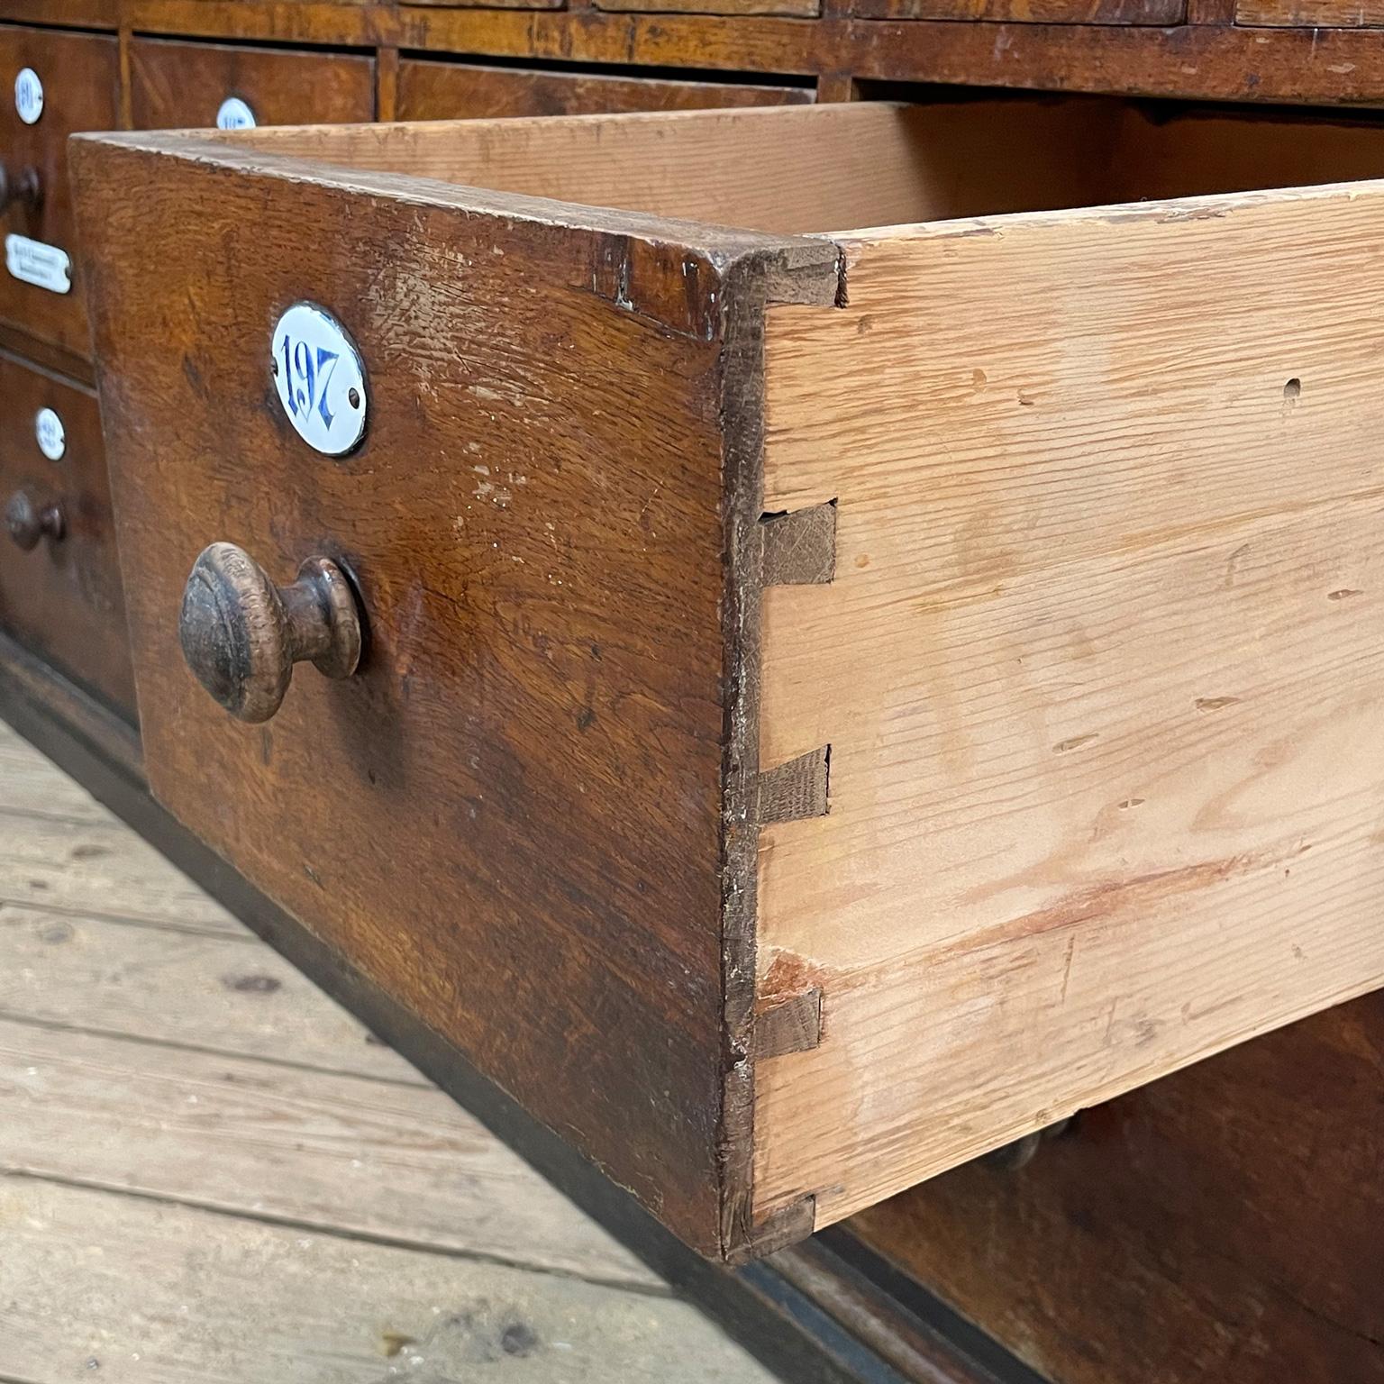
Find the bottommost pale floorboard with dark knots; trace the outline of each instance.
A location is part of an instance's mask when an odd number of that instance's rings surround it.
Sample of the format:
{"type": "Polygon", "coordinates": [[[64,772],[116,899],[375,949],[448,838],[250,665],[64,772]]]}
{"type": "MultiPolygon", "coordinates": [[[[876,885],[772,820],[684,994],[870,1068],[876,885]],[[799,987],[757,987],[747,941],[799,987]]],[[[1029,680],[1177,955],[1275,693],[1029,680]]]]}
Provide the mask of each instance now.
{"type": "Polygon", "coordinates": [[[28,1178],[0,1223],[0,1374],[26,1384],[770,1384],[671,1298],[28,1178]]]}

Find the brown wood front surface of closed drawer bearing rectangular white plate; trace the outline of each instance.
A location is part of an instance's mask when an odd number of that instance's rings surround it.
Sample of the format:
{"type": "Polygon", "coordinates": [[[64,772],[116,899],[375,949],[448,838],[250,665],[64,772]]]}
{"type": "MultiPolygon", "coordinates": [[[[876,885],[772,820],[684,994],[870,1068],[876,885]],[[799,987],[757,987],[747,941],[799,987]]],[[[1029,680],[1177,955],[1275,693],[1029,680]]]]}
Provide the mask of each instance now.
{"type": "Polygon", "coordinates": [[[61,29],[0,28],[0,158],[14,174],[33,167],[39,174],[39,206],[11,206],[0,213],[0,234],[26,235],[57,245],[72,259],[72,291],[53,293],[24,284],[0,267],[0,321],[42,342],[87,356],[82,260],[72,224],[66,138],[73,130],[113,130],[119,123],[120,71],[115,39],[61,29]],[[25,125],[14,108],[14,79],[33,68],[43,82],[43,115],[25,125]]]}

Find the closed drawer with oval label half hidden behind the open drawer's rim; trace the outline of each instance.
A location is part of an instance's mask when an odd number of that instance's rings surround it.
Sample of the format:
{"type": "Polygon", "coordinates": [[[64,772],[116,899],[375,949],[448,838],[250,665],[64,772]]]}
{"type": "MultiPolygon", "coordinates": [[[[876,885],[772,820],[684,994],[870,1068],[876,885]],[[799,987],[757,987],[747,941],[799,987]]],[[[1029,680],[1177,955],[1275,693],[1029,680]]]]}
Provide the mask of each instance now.
{"type": "Polygon", "coordinates": [[[136,39],[130,44],[136,129],[370,120],[375,60],[221,43],[136,39]]]}

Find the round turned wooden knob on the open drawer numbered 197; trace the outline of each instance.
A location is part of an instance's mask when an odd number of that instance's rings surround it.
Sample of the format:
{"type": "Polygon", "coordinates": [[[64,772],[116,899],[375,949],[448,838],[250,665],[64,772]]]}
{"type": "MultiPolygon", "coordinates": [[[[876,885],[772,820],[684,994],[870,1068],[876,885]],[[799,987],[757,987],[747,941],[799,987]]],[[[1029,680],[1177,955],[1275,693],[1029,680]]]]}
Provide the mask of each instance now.
{"type": "Polygon", "coordinates": [[[198,682],[242,721],[267,721],[293,664],[329,678],[360,663],[360,614],[340,567],[309,558],[291,587],[275,587],[242,548],[213,543],[192,565],[179,617],[183,657],[198,682]]]}

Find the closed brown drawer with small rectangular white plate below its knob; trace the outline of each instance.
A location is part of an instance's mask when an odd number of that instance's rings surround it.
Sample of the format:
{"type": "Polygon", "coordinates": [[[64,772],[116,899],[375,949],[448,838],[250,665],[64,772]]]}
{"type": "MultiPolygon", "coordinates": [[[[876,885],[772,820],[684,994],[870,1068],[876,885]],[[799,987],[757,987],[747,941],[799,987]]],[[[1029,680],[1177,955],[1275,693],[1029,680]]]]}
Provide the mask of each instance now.
{"type": "Polygon", "coordinates": [[[66,140],[73,130],[115,129],[119,83],[111,35],[0,25],[0,163],[8,187],[0,212],[0,322],[79,357],[89,354],[89,342],[66,140]],[[25,79],[24,101],[17,91],[22,73],[37,79],[37,87],[25,79]],[[19,107],[35,115],[40,89],[42,109],[29,123],[19,107]]]}

